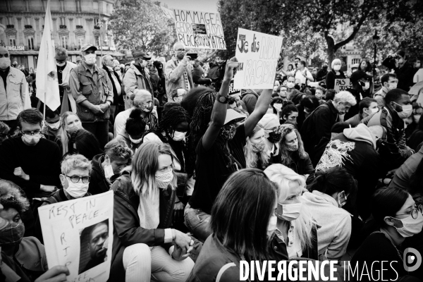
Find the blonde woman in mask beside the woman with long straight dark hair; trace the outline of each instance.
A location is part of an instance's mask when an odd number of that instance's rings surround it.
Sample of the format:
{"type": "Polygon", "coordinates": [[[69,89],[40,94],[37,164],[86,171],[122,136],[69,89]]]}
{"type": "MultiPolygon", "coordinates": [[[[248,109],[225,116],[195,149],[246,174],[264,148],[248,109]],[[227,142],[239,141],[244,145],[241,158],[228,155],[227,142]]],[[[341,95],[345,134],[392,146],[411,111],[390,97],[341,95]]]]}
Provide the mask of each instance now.
{"type": "Polygon", "coordinates": [[[272,164],[264,173],[278,186],[278,221],[271,239],[275,258],[318,259],[316,222],[301,200],[304,177],[282,164],[272,164]]]}

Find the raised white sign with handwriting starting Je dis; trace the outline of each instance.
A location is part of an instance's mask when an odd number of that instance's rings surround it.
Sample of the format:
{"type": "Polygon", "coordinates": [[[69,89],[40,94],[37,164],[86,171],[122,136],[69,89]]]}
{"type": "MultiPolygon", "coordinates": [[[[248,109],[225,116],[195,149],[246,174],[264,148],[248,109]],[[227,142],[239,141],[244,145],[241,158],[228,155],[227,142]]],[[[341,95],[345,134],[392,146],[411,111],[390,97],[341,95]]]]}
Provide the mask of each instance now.
{"type": "Polygon", "coordinates": [[[238,89],[273,89],[282,37],[238,28],[235,56],[240,66],[235,75],[238,89]]]}

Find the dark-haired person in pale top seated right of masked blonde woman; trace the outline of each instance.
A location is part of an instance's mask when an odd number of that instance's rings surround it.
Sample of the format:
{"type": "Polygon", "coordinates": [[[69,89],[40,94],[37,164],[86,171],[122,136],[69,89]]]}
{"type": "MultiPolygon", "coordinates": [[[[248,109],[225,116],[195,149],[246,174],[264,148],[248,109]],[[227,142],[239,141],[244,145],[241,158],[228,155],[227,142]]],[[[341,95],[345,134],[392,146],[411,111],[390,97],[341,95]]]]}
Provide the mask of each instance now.
{"type": "Polygon", "coordinates": [[[341,260],[351,235],[351,215],[342,207],[355,197],[355,179],[345,168],[335,166],[319,171],[307,189],[302,202],[321,226],[317,229],[319,257],[341,260]]]}

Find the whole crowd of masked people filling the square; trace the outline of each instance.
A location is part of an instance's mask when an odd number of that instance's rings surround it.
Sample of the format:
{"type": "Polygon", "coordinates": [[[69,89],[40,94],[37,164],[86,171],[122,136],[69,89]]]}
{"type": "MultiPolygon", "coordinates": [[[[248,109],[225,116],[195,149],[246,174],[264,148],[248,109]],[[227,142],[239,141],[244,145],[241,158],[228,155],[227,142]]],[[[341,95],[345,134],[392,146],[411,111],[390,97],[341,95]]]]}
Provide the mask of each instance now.
{"type": "Polygon", "coordinates": [[[37,208],[112,190],[109,281],[239,281],[242,260],[298,259],[388,260],[385,279],[421,281],[403,265],[423,253],[423,104],[404,51],[379,81],[367,60],[347,75],[296,58],[273,89],[232,95],[236,58],[216,75],[182,42],[168,61],[134,50],[102,68],[95,51],[56,49],[61,107],[42,111],[24,109],[30,74],[0,47],[1,278],[66,281],[37,208]]]}

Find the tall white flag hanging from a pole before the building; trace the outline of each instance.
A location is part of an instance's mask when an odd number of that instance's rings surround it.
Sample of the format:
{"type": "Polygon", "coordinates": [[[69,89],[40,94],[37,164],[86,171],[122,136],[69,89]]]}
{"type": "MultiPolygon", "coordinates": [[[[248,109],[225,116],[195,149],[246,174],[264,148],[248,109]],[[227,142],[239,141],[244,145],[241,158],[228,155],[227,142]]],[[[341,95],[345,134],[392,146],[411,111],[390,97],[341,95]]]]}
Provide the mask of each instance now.
{"type": "Polygon", "coordinates": [[[57,79],[56,61],[54,56],[54,41],[51,39],[51,13],[50,0],[47,1],[46,17],[44,20],[44,32],[42,33],[41,45],[37,63],[37,98],[44,102],[51,111],[60,106],[59,80],[57,79]]]}

